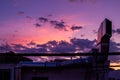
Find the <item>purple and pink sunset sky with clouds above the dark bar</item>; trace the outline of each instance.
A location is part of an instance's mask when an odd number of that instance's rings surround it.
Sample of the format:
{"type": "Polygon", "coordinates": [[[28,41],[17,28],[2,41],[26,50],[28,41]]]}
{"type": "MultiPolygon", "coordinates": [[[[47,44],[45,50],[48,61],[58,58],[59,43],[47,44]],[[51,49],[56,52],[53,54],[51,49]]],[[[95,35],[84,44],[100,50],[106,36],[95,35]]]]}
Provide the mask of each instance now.
{"type": "Polygon", "coordinates": [[[101,22],[112,21],[110,52],[120,51],[120,0],[0,0],[0,51],[87,52],[101,22]]]}

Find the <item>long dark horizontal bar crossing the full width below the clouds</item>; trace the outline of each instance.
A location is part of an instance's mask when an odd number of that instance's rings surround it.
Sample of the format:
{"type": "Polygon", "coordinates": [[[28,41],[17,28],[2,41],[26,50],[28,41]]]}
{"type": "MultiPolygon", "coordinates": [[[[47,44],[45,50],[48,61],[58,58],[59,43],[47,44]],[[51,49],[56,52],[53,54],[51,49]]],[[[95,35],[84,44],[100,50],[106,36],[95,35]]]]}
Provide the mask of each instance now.
{"type": "Polygon", "coordinates": [[[0,56],[12,55],[12,56],[116,56],[120,55],[120,52],[113,53],[0,53],[0,56]]]}

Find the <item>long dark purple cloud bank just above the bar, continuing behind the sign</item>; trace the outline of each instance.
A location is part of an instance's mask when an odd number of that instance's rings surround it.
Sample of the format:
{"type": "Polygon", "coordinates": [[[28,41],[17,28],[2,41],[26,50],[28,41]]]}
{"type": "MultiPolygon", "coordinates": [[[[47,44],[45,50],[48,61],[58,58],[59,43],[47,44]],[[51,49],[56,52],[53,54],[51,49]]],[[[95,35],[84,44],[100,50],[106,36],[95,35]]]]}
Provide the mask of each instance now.
{"type": "MultiPolygon", "coordinates": [[[[6,51],[15,51],[17,53],[71,53],[76,51],[83,51],[85,49],[92,49],[96,40],[88,40],[88,39],[78,39],[73,38],[70,42],[66,41],[48,41],[45,44],[36,44],[34,42],[30,42],[27,46],[23,46],[22,44],[2,44],[0,45],[0,52],[6,51]]],[[[116,43],[110,41],[110,52],[119,52],[120,51],[120,43],[116,43]]]]}

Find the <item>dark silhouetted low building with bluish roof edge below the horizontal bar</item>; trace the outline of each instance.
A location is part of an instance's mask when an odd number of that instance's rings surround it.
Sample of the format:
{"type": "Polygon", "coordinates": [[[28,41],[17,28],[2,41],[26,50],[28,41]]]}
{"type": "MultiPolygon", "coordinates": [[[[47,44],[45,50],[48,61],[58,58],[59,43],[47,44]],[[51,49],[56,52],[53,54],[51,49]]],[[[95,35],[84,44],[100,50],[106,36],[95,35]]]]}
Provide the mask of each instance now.
{"type": "Polygon", "coordinates": [[[108,67],[109,62],[97,64],[96,67],[93,58],[62,62],[22,61],[18,64],[0,64],[0,78],[1,80],[98,80],[98,78],[105,80],[108,67]]]}

